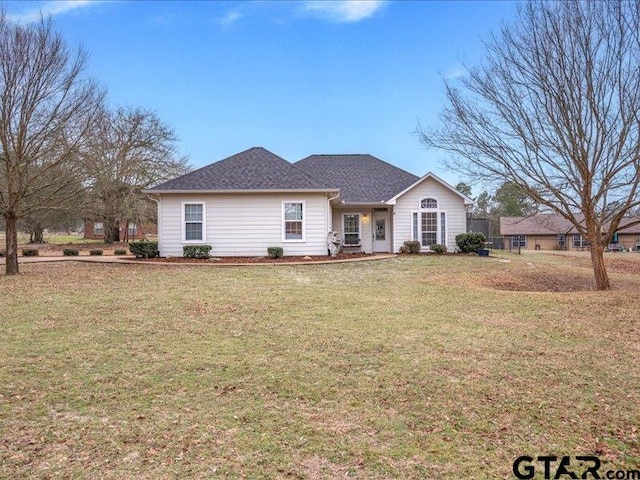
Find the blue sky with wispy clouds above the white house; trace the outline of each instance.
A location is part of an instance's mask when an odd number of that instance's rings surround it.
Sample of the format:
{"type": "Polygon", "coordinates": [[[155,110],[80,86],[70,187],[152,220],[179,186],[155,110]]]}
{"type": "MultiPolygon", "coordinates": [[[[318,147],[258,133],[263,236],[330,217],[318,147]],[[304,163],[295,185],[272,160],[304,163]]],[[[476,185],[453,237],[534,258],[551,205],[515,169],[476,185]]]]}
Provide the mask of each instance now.
{"type": "Polygon", "coordinates": [[[289,161],[370,153],[456,183],[413,133],[437,125],[442,78],[477,64],[513,2],[3,3],[51,14],[113,106],[156,111],[199,167],[253,146],[289,161]]]}

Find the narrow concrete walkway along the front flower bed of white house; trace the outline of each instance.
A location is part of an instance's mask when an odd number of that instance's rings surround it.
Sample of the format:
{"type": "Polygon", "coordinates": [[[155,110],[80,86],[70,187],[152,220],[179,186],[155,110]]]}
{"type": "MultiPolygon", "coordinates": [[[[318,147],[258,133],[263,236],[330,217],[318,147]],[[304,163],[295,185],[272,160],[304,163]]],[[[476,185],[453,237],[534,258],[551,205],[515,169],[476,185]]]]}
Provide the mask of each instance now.
{"type": "MultiPolygon", "coordinates": [[[[353,262],[368,262],[372,260],[385,260],[389,258],[396,258],[394,253],[379,253],[371,256],[356,258],[345,258],[340,260],[319,260],[319,261],[302,261],[302,262],[254,262],[254,263],[221,263],[221,262],[149,262],[145,260],[137,260],[132,255],[112,256],[112,255],[90,255],[90,256],[77,256],[77,257],[65,257],[65,256],[38,256],[38,257],[18,257],[18,263],[24,265],[27,263],[51,263],[51,262],[88,262],[88,263],[120,263],[129,265],[171,265],[173,267],[255,267],[255,266],[273,266],[273,265],[327,265],[336,263],[353,263],[353,262]]],[[[0,265],[5,264],[5,258],[0,258],[0,265]]]]}

